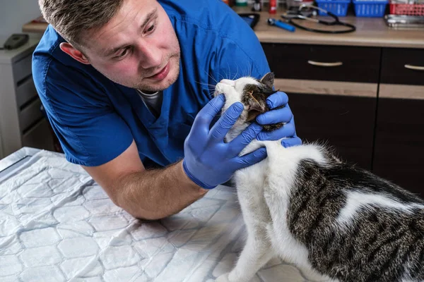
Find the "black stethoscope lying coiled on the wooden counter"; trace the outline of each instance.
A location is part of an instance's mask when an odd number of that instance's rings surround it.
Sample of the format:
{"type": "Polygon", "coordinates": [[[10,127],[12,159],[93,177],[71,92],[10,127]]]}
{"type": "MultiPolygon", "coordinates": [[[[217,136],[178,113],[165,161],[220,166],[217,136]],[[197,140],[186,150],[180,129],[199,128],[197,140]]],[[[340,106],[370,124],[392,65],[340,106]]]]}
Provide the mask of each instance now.
{"type": "Polygon", "coordinates": [[[293,25],[295,27],[298,27],[302,30],[307,30],[310,32],[320,32],[320,33],[331,33],[331,34],[338,34],[338,33],[348,33],[348,32],[354,32],[356,30],[355,25],[351,25],[350,23],[343,23],[338,19],[338,16],[334,15],[334,13],[331,13],[330,11],[326,11],[323,8],[319,8],[317,6],[312,6],[309,4],[303,4],[301,6],[299,6],[297,12],[295,12],[294,14],[291,13],[285,13],[283,15],[281,15],[281,18],[284,18],[287,23],[290,23],[290,25],[293,25]],[[325,13],[327,16],[330,16],[331,18],[333,18],[332,20],[319,20],[317,18],[311,18],[312,14],[314,14],[313,12],[310,13],[309,15],[305,16],[305,13],[303,11],[304,8],[310,8],[315,11],[322,11],[323,13],[325,13]],[[311,27],[306,27],[305,25],[300,25],[299,23],[296,23],[295,21],[293,21],[293,19],[300,19],[300,20],[310,20],[314,23],[319,23],[321,25],[326,25],[326,26],[344,26],[346,27],[346,29],[343,30],[320,30],[320,29],[315,29],[315,28],[311,28],[311,27]]]}

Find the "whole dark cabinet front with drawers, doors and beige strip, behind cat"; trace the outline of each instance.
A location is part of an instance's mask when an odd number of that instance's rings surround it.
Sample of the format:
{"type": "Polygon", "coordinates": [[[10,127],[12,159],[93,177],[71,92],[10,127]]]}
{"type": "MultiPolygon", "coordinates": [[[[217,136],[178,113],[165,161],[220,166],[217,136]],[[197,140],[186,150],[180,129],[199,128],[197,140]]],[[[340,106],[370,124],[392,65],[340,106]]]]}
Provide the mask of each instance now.
{"type": "Polygon", "coordinates": [[[302,140],[424,197],[424,49],[262,46],[302,140]]]}

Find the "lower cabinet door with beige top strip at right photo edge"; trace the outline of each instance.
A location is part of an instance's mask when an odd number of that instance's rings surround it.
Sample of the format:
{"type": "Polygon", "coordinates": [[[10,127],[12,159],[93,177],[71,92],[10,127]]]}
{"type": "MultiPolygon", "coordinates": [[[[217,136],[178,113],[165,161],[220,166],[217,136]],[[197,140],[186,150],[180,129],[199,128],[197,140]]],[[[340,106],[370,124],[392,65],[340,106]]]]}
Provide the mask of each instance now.
{"type": "Polygon", "coordinates": [[[424,86],[380,85],[373,171],[424,198],[424,86]]]}

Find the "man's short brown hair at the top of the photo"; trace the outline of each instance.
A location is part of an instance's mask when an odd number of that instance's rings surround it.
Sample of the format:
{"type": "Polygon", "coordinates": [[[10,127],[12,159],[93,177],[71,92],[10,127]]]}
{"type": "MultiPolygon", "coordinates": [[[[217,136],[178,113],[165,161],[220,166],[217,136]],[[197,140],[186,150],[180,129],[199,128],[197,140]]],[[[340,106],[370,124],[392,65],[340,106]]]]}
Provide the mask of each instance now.
{"type": "Polygon", "coordinates": [[[84,45],[83,35],[108,23],[124,0],[38,0],[42,16],[73,45],[84,45]],[[85,33],[86,32],[86,33],[85,33]]]}

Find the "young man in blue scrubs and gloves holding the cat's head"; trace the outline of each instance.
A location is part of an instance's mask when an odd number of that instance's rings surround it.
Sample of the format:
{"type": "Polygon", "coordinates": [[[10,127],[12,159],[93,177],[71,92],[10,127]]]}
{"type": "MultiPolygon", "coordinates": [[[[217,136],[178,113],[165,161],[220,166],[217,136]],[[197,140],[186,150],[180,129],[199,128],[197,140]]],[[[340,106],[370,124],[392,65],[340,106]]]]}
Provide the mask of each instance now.
{"type": "Polygon", "coordinates": [[[33,76],[49,122],[66,159],[131,215],[175,214],[261,161],[264,148],[238,157],[254,138],[301,143],[283,92],[268,101],[283,108],[224,142],[242,104],[219,118],[225,98],[213,98],[213,85],[261,78],[269,66],[252,29],[223,1],[39,4],[49,26],[33,54],[33,76]],[[261,132],[277,122],[287,124],[261,132]]]}

